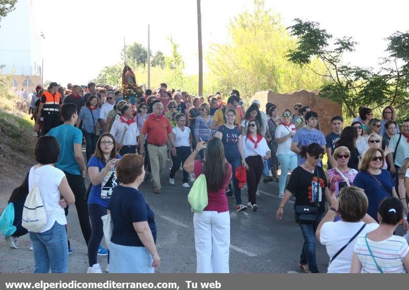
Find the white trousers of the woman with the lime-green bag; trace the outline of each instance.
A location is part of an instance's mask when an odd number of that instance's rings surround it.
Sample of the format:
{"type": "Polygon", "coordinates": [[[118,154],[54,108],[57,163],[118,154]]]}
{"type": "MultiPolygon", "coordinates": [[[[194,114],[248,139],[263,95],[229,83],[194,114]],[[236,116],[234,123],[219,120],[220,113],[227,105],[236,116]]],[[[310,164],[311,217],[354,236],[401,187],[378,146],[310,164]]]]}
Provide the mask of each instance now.
{"type": "Polygon", "coordinates": [[[230,213],[203,211],[193,215],[196,273],[229,273],[230,213]]]}

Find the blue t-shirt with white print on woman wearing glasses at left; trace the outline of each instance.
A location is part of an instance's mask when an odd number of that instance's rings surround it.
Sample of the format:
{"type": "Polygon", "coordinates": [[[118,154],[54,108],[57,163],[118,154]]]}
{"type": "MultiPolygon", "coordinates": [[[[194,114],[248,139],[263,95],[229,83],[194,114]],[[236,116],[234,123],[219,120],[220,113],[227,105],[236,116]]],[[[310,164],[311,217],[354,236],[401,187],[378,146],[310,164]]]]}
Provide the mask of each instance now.
{"type": "MultiPolygon", "coordinates": [[[[118,155],[117,159],[121,159],[121,156],[118,155]]],[[[98,167],[99,171],[101,172],[105,168],[105,164],[97,157],[93,156],[88,161],[87,168],[88,167],[98,167]]],[[[91,186],[88,196],[88,205],[97,204],[102,207],[108,208],[109,198],[111,197],[112,190],[119,184],[117,180],[116,169],[117,167],[114,167],[112,170],[109,170],[99,185],[91,186]]]]}

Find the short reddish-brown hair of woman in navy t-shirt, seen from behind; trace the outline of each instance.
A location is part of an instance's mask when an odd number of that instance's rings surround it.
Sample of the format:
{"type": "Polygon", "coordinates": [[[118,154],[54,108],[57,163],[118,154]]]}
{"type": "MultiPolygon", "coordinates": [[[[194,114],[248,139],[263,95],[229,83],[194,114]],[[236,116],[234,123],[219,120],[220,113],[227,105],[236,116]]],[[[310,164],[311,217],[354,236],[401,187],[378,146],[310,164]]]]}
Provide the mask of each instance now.
{"type": "Polygon", "coordinates": [[[142,174],[144,158],[138,154],[125,154],[117,164],[117,178],[121,183],[134,182],[142,174]]]}

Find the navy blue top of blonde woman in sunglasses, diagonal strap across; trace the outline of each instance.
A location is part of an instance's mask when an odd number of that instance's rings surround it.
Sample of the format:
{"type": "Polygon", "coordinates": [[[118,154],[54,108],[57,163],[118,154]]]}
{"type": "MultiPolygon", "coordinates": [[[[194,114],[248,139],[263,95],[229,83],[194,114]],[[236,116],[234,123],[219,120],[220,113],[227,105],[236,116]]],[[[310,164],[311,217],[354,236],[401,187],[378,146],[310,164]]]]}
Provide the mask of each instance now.
{"type": "Polygon", "coordinates": [[[388,170],[381,169],[381,173],[375,175],[375,178],[382,184],[380,185],[368,172],[359,171],[354,179],[354,186],[362,188],[368,197],[368,214],[375,220],[378,220],[378,210],[380,203],[386,197],[392,196],[393,181],[392,175],[388,170]]]}

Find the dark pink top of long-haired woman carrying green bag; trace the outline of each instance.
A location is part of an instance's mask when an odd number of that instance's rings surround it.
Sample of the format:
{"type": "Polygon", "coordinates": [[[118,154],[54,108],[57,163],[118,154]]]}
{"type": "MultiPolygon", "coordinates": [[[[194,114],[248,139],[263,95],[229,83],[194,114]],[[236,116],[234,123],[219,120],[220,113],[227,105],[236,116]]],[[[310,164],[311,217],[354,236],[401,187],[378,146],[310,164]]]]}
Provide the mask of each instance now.
{"type": "MultiPolygon", "coordinates": [[[[224,192],[224,189],[230,182],[230,173],[232,172],[232,165],[230,165],[230,163],[228,163],[228,165],[229,165],[229,171],[226,174],[226,178],[224,179],[223,186],[218,191],[208,190],[209,203],[208,203],[208,206],[204,210],[217,211],[217,212],[229,211],[227,197],[224,192]]],[[[203,164],[201,163],[201,161],[196,160],[194,163],[195,178],[197,178],[201,174],[202,168],[203,168],[203,164]]]]}

